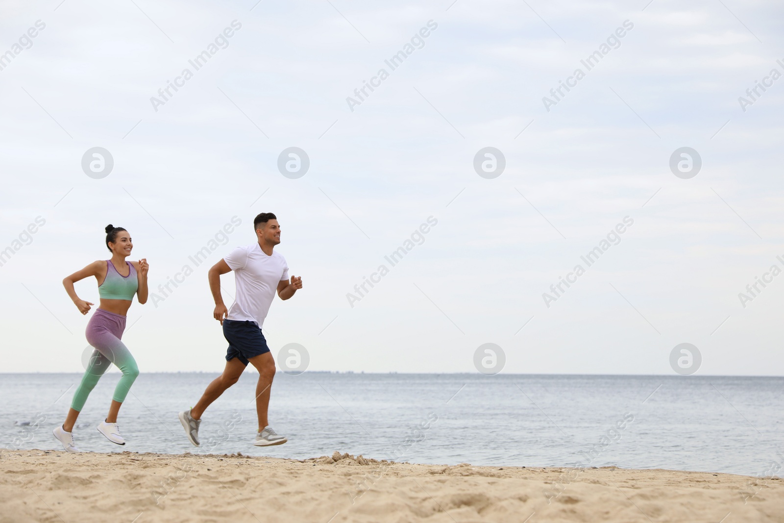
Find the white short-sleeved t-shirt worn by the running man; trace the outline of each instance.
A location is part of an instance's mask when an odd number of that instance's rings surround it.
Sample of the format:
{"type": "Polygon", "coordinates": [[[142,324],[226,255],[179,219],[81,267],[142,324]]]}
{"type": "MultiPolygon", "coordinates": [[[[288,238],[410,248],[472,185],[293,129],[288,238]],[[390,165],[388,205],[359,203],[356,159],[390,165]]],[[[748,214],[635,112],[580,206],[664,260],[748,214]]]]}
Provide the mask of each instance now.
{"type": "Polygon", "coordinates": [[[224,256],[226,264],[234,271],[237,297],[234,298],[227,318],[234,321],[253,321],[261,325],[278,290],[278,282],[289,280],[286,260],[272,252],[267,256],[258,242],[238,247],[224,256]]]}

